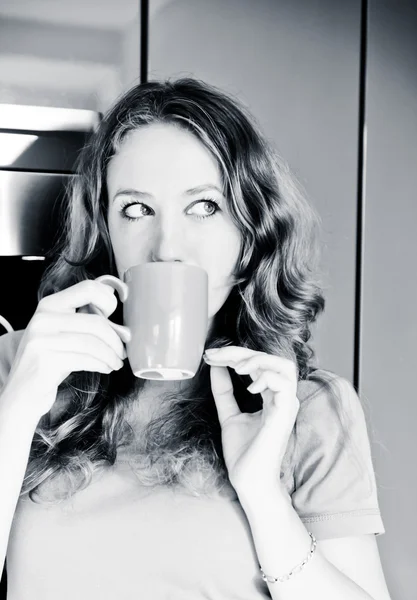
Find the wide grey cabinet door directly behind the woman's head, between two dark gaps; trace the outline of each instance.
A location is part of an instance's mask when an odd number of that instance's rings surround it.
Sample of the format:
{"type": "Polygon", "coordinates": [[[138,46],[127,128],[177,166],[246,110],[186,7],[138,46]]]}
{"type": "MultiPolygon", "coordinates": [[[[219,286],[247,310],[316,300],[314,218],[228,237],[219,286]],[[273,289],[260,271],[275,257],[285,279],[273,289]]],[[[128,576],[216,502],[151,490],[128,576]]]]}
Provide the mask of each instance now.
{"type": "Polygon", "coordinates": [[[360,2],[150,1],[149,79],[243,100],[323,221],[322,367],[353,377],[360,2]]]}

